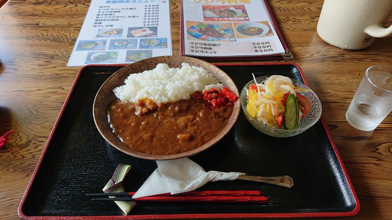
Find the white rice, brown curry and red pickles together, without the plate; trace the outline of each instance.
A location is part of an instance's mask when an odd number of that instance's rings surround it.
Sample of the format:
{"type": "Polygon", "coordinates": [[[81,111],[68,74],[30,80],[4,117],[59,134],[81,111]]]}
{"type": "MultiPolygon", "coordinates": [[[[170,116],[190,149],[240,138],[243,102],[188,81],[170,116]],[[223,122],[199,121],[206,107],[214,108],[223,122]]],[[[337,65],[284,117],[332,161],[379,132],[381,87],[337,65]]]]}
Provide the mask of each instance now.
{"type": "Polygon", "coordinates": [[[154,155],[196,149],[219,136],[238,99],[205,69],[158,64],[130,74],[107,107],[112,131],[131,149],[154,155]]]}

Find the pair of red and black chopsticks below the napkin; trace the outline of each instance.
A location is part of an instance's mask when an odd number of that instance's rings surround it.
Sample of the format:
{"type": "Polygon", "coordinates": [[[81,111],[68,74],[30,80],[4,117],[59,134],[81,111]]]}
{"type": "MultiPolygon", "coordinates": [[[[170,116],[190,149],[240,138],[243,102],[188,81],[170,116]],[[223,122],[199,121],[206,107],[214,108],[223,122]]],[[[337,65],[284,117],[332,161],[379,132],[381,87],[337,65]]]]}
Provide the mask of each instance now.
{"type": "Polygon", "coordinates": [[[261,196],[257,190],[240,190],[240,191],[191,191],[175,195],[160,194],[149,197],[131,198],[135,192],[127,193],[93,193],[87,196],[120,196],[116,198],[92,198],[92,200],[106,201],[161,201],[161,202],[261,202],[265,203],[268,198],[261,196]],[[123,196],[123,197],[121,197],[123,196]]]}

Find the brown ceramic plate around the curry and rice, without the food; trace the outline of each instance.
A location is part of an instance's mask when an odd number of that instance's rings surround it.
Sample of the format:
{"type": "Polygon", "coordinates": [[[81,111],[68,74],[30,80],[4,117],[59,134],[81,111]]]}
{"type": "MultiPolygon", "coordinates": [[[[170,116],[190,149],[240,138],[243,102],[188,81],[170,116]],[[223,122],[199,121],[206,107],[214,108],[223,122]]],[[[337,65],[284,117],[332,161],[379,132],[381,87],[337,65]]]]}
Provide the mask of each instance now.
{"type": "Polygon", "coordinates": [[[202,146],[194,150],[179,153],[179,154],[156,155],[156,154],[146,154],[143,152],[135,151],[130,147],[124,145],[123,142],[121,142],[121,140],[112,132],[112,129],[110,128],[109,123],[107,122],[106,108],[112,100],[116,99],[116,96],[113,93],[113,89],[124,85],[124,80],[126,79],[126,77],[128,77],[129,74],[139,73],[139,72],[143,72],[144,70],[153,69],[157,64],[160,63],[166,63],[169,65],[169,67],[181,67],[182,63],[188,63],[191,66],[201,66],[209,73],[211,73],[215,78],[217,78],[219,82],[223,84],[226,88],[229,88],[238,97],[240,97],[238,89],[235,86],[234,82],[231,80],[231,78],[220,68],[210,63],[192,57],[182,57],[182,56],[153,57],[123,67],[119,71],[115,72],[103,83],[101,88],[99,88],[98,90],[93,105],[93,117],[94,117],[95,124],[98,128],[98,131],[101,133],[101,135],[103,136],[103,138],[105,138],[107,142],[109,142],[113,147],[115,147],[119,151],[125,154],[129,154],[131,156],[135,156],[143,159],[150,159],[150,160],[171,160],[171,159],[188,157],[194,154],[198,154],[210,148],[215,143],[217,143],[219,140],[221,140],[221,138],[224,135],[227,134],[227,132],[230,131],[230,129],[233,127],[240,113],[241,107],[240,107],[239,100],[237,100],[234,103],[234,110],[229,118],[226,127],[215,138],[213,138],[209,142],[203,144],[202,146]]]}

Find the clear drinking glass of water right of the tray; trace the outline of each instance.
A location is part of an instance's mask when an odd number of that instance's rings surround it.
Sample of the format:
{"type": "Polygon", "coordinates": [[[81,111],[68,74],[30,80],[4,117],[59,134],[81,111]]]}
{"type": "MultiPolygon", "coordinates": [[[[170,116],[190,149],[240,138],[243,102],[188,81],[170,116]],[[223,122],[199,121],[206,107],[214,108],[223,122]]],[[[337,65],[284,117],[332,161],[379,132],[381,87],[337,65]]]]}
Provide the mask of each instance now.
{"type": "Polygon", "coordinates": [[[374,130],[392,110],[392,68],[370,66],[346,112],[347,122],[361,131],[374,130]]]}

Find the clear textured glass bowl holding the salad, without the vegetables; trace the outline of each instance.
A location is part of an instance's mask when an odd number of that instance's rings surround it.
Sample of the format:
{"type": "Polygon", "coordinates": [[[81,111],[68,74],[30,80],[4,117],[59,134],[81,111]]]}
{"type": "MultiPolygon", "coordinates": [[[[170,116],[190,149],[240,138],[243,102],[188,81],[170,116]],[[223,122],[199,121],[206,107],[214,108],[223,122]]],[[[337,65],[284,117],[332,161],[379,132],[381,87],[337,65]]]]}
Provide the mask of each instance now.
{"type": "MultiPolygon", "coordinates": [[[[256,78],[256,82],[258,84],[260,84],[264,80],[267,80],[268,77],[270,77],[270,76],[263,76],[263,77],[256,78]]],[[[240,95],[240,101],[241,101],[242,110],[244,111],[246,119],[250,122],[250,124],[255,129],[257,129],[260,132],[263,132],[267,135],[273,136],[273,137],[291,137],[291,136],[300,134],[302,132],[305,132],[310,127],[312,127],[314,124],[316,124],[316,122],[319,120],[319,118],[321,116],[321,102],[319,100],[319,97],[316,95],[316,93],[312,89],[308,88],[304,84],[302,84],[294,79],[291,79],[291,80],[292,80],[294,86],[296,86],[298,88],[309,89],[306,92],[297,92],[297,94],[301,94],[301,95],[305,96],[307,99],[309,99],[309,101],[311,103],[311,109],[310,109],[308,115],[306,115],[304,118],[301,118],[299,120],[298,125],[293,130],[273,128],[273,127],[267,126],[263,122],[259,121],[257,119],[257,117],[252,117],[246,111],[246,105],[248,102],[248,100],[246,99],[246,89],[249,88],[249,86],[251,84],[254,84],[254,80],[251,80],[242,89],[241,95],[240,95]]]]}

